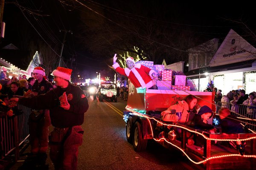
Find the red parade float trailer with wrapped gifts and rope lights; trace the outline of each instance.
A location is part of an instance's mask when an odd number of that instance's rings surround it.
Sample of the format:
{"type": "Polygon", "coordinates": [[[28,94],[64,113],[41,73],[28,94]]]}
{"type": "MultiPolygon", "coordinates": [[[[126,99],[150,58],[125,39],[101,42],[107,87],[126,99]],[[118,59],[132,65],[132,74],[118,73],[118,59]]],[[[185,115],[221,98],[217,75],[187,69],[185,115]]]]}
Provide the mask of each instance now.
{"type": "MultiPolygon", "coordinates": [[[[146,62],[145,62],[146,63],[146,62]]],[[[191,91],[188,79],[184,75],[173,75],[172,70],[157,66],[158,90],[134,88],[129,84],[128,101],[123,113],[126,122],[126,138],[139,152],[145,150],[148,140],[154,140],[166,148],[176,148],[194,164],[211,169],[253,169],[256,166],[256,133],[224,134],[208,133],[195,130],[179,123],[165,122],[161,119],[161,112],[175,104],[183,97],[192,94],[197,97],[198,105],[207,105],[215,112],[214,93],[191,91]],[[181,135],[173,129],[180,128],[181,135]],[[165,135],[160,136],[159,132],[165,135]],[[203,146],[199,147],[187,143],[187,133],[200,136],[203,146]],[[221,143],[246,142],[246,146],[237,145],[230,148],[221,143]]],[[[218,115],[214,115],[218,117],[218,115]]],[[[215,120],[216,121],[216,120],[215,120]]],[[[209,124],[212,124],[212,119],[209,124]]]]}

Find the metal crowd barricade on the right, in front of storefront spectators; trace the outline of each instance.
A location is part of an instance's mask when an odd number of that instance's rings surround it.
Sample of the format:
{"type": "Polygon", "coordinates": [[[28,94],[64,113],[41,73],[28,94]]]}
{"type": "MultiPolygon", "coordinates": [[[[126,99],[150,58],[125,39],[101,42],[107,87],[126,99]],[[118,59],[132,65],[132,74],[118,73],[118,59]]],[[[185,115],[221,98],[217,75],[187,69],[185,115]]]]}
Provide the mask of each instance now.
{"type": "Polygon", "coordinates": [[[236,116],[244,126],[256,132],[256,105],[233,105],[232,103],[218,102],[216,113],[220,108],[229,108],[231,114],[236,116]]]}

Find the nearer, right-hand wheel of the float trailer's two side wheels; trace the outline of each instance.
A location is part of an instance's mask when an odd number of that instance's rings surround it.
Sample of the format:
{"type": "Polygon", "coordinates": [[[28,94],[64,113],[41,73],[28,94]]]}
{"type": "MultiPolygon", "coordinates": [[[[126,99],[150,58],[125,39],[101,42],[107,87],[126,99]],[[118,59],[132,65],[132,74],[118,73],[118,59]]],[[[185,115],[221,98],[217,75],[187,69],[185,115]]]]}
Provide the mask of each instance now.
{"type": "Polygon", "coordinates": [[[142,129],[140,122],[136,122],[133,128],[133,147],[136,152],[145,150],[147,147],[147,139],[142,138],[142,129]]]}

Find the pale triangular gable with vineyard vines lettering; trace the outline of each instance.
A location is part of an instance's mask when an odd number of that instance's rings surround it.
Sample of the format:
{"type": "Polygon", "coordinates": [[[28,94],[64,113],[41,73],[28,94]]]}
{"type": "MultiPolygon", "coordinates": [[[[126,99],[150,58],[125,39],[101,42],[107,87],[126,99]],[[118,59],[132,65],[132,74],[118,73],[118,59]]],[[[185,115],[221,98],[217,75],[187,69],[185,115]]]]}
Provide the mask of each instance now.
{"type": "Polygon", "coordinates": [[[208,66],[226,65],[251,59],[256,59],[256,48],[230,29],[208,66]]]}

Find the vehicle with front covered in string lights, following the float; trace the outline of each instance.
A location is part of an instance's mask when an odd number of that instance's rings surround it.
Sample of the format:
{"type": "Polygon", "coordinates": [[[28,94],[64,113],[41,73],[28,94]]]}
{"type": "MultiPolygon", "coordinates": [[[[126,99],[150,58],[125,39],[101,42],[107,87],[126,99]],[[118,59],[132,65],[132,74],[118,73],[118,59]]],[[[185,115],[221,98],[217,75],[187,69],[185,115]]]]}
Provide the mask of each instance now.
{"type": "Polygon", "coordinates": [[[114,83],[102,83],[98,91],[99,101],[110,100],[117,102],[117,90],[114,83]]]}

